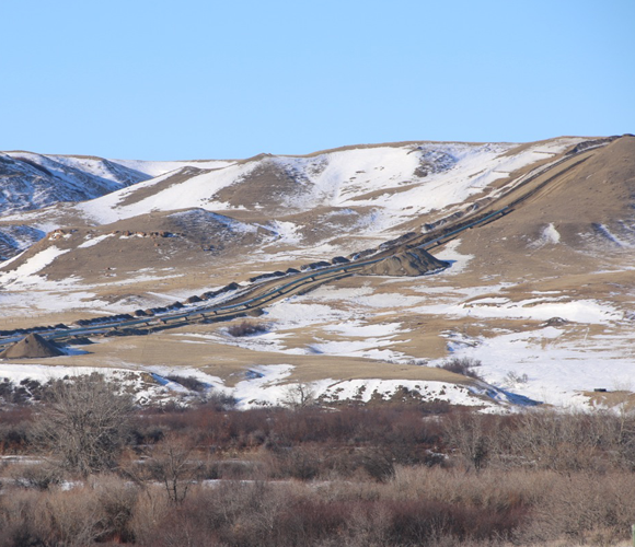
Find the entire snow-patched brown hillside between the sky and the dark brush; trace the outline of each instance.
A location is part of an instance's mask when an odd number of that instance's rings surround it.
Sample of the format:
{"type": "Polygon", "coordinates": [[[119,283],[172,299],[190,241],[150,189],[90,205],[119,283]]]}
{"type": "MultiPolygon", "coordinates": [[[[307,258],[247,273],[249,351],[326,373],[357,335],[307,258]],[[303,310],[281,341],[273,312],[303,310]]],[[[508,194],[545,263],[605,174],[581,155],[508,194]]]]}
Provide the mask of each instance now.
{"type": "Polygon", "coordinates": [[[66,344],[0,361],[0,379],[99,368],[165,398],[189,395],[166,376],[194,376],[242,407],[300,388],[611,406],[634,388],[633,136],[189,162],[3,152],[0,184],[0,344],[49,325],[66,344]],[[483,380],[437,368],[453,358],[483,380]]]}

